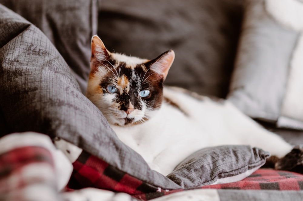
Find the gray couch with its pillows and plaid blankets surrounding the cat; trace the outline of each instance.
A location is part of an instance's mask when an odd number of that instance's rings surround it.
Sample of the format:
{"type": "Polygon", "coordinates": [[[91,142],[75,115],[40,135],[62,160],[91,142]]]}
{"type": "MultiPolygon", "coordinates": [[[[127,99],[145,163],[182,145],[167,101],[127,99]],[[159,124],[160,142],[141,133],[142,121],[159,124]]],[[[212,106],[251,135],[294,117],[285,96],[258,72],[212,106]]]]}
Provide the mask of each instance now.
{"type": "Polygon", "coordinates": [[[302,4],[0,0],[1,199],[301,200],[303,175],[258,169],[269,154],[249,146],[206,148],[161,175],[84,94],[92,35],[138,57],[174,49],[166,85],[228,99],[303,144],[302,4]]]}

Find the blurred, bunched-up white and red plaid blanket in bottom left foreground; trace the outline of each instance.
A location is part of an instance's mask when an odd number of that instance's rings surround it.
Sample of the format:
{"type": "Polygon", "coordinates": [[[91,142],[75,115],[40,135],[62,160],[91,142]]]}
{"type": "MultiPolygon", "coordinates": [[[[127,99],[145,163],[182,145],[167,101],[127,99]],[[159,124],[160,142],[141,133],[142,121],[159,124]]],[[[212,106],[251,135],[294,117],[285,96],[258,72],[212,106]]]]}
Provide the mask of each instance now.
{"type": "Polygon", "coordinates": [[[0,200],[60,201],[72,166],[47,135],[14,133],[0,138],[0,200]]]}

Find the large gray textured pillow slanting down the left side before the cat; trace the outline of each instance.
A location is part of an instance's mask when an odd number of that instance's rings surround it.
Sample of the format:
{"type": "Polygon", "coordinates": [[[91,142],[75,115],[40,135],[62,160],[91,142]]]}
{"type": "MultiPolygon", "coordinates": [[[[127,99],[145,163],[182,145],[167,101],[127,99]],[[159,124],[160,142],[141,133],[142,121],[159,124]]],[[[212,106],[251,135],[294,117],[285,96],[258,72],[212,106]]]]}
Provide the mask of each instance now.
{"type": "Polygon", "coordinates": [[[118,140],[38,28],[2,5],[0,27],[6,28],[0,31],[0,137],[24,131],[57,136],[150,185],[180,188],[118,140]]]}

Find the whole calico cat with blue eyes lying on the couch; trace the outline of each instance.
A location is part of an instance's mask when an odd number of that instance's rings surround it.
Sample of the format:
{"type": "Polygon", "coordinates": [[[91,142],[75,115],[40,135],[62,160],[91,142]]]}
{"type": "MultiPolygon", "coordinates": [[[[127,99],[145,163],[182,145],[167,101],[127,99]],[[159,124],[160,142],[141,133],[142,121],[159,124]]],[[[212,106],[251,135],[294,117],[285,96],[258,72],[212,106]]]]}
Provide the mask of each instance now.
{"type": "MultiPolygon", "coordinates": [[[[86,96],[101,110],[118,138],[141,154],[151,169],[167,175],[195,151],[218,145],[251,145],[278,158],[290,153],[280,160],[284,163],[296,166],[300,161],[302,149],[293,149],[227,100],[216,102],[164,86],[175,58],[173,50],[147,60],[111,53],[97,35],[91,44],[86,96]],[[299,150],[300,157],[293,156],[294,150],[299,150]]],[[[285,167],[280,161],[277,169],[285,167]]]]}

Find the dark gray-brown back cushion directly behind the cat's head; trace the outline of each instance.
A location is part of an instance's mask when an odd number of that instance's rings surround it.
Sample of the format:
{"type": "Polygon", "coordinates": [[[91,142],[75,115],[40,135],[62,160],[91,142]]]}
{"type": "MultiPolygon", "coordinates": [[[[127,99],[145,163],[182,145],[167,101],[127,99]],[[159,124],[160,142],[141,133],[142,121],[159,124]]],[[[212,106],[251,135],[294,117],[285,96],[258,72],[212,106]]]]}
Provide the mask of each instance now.
{"type": "Polygon", "coordinates": [[[165,85],[225,98],[242,0],[101,0],[98,35],[110,51],[148,59],[173,49],[165,85]]]}

